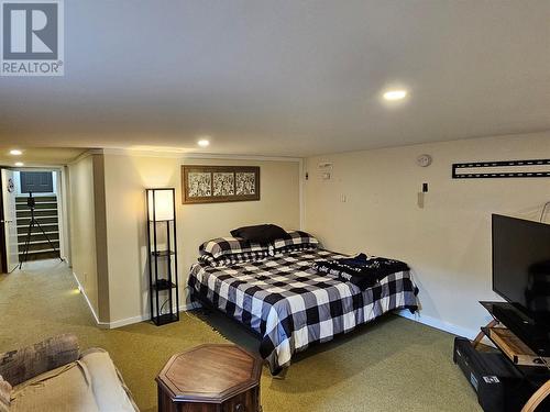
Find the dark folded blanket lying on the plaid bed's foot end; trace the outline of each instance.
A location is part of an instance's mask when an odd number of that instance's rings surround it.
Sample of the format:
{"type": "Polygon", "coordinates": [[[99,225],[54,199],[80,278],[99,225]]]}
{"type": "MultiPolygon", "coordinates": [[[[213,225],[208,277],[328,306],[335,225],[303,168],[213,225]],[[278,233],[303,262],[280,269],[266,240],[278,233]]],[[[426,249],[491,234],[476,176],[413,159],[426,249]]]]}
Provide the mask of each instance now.
{"type": "Polygon", "coordinates": [[[373,287],[388,275],[409,270],[406,263],[385,257],[367,257],[359,254],[353,257],[331,260],[317,260],[312,269],[358,286],[361,290],[373,287]]]}

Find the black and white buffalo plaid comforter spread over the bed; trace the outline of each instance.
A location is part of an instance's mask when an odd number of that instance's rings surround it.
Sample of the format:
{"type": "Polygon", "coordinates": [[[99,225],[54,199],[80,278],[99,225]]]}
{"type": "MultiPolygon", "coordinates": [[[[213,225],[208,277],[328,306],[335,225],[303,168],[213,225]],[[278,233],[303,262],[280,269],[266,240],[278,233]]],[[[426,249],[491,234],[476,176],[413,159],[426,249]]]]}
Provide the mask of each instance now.
{"type": "Polygon", "coordinates": [[[318,259],[346,257],[299,250],[227,267],[195,264],[188,286],[262,336],[260,354],[278,374],[294,353],[395,309],[417,309],[418,289],[409,271],[389,275],[361,291],[356,286],[310,270],[318,259]]]}

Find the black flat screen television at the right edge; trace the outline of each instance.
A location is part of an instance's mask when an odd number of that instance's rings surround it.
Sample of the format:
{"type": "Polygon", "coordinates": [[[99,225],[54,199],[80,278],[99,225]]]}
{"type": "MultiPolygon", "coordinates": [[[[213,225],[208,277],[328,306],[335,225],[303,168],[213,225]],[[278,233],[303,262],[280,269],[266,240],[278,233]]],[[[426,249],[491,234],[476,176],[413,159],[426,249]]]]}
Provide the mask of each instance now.
{"type": "Polygon", "coordinates": [[[550,225],[493,214],[493,290],[550,327],[550,225]]]}

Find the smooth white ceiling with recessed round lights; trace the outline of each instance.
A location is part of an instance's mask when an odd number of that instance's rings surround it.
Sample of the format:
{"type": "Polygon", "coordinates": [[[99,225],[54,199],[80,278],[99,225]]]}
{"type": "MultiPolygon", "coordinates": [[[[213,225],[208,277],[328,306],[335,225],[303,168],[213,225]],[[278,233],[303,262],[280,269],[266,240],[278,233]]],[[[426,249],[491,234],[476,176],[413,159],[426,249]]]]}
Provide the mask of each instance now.
{"type": "Polygon", "coordinates": [[[65,77],[0,78],[0,145],[307,156],[550,130],[547,0],[80,0],[65,22],[65,77]]]}

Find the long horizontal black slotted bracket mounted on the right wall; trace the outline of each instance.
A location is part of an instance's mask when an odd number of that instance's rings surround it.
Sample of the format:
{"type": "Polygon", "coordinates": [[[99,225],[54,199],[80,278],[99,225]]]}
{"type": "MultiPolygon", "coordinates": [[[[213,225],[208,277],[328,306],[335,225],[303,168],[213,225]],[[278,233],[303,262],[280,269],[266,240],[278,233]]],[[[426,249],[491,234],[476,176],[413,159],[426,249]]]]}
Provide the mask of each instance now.
{"type": "Polygon", "coordinates": [[[453,179],[529,177],[550,177],[550,159],[469,162],[452,165],[453,179]],[[515,169],[516,167],[517,171],[510,170],[510,168],[515,169]]]}

